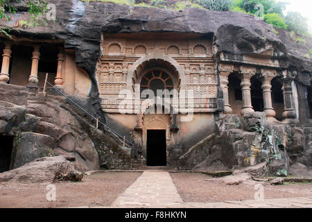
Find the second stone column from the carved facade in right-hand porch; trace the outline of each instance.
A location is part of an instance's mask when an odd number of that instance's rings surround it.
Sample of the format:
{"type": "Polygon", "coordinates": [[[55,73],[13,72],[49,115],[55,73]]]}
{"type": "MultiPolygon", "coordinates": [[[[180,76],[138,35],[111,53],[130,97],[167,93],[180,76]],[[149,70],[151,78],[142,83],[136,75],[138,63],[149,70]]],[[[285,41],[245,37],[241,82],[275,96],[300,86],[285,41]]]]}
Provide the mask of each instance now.
{"type": "Polygon", "coordinates": [[[256,68],[254,67],[241,67],[240,68],[241,75],[241,91],[243,94],[243,109],[241,110],[241,115],[247,112],[254,112],[252,109],[252,101],[251,101],[251,94],[250,94],[250,78],[254,76],[256,73],[256,68]]]}

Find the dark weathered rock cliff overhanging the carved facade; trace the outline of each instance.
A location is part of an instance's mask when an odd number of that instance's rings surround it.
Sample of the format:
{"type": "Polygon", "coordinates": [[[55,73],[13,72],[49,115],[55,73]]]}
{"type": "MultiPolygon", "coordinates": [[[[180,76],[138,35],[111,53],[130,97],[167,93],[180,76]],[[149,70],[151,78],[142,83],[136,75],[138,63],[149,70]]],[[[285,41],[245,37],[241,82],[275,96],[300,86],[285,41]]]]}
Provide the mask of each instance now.
{"type": "MultiPolygon", "coordinates": [[[[274,57],[281,65],[311,73],[311,59],[302,56],[312,48],[295,44],[285,31],[275,33],[266,22],[240,12],[216,12],[198,8],[182,11],[159,8],[133,7],[115,3],[79,0],[51,0],[56,7],[56,21],[35,28],[17,27],[17,21],[27,16],[24,1],[17,3],[19,10],[11,22],[0,22],[12,28],[16,36],[40,39],[62,39],[65,49],[76,49],[76,63],[92,79],[92,96],[98,94],[95,69],[101,54],[102,33],[177,32],[203,33],[214,36],[218,55],[221,51],[233,57],[259,54],[275,46],[274,57]]],[[[299,78],[299,77],[298,77],[299,78]]]]}

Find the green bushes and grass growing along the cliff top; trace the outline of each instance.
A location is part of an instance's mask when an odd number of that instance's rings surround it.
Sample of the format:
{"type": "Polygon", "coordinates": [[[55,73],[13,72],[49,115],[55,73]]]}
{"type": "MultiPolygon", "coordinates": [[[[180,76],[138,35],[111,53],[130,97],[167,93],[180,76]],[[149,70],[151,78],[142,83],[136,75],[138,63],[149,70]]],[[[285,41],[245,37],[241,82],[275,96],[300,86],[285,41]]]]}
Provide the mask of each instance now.
{"type": "Polygon", "coordinates": [[[183,10],[186,7],[202,8],[217,11],[232,10],[254,15],[263,19],[266,23],[276,28],[293,31],[297,35],[311,35],[309,33],[308,19],[300,12],[288,12],[284,15],[287,2],[276,0],[184,0],[176,3],[168,3],[164,0],[82,0],[82,1],[103,1],[141,6],[149,8],[166,8],[171,10],[183,10]],[[148,3],[146,3],[148,2],[148,3]]]}

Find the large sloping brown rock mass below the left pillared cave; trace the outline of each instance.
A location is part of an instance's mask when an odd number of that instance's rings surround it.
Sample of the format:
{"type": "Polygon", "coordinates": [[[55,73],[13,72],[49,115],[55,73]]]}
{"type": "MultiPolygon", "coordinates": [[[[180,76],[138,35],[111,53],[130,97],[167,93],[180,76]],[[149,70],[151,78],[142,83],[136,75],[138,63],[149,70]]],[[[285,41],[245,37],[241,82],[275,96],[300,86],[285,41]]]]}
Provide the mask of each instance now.
{"type": "MultiPolygon", "coordinates": [[[[26,87],[1,85],[0,100],[0,134],[15,137],[12,168],[55,155],[66,156],[79,171],[130,167],[130,153],[123,151],[121,142],[105,128],[97,129],[66,99],[45,98],[26,87]],[[19,101],[20,94],[24,103],[19,101]]],[[[83,104],[88,99],[80,100],[83,104]]],[[[85,109],[92,112],[92,105],[85,109]]]]}

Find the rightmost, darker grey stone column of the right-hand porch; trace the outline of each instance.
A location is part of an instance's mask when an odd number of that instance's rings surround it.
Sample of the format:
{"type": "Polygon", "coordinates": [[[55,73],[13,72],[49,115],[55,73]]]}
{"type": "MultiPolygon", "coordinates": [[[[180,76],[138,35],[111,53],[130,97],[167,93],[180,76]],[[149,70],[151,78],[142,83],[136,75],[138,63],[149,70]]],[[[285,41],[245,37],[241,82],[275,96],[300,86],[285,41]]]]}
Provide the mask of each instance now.
{"type": "Polygon", "coordinates": [[[283,78],[283,95],[284,95],[284,117],[283,122],[285,123],[298,123],[296,119],[296,112],[293,108],[293,89],[291,87],[291,78],[283,78]]]}

